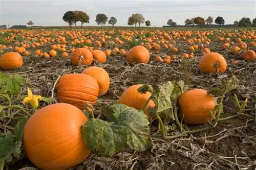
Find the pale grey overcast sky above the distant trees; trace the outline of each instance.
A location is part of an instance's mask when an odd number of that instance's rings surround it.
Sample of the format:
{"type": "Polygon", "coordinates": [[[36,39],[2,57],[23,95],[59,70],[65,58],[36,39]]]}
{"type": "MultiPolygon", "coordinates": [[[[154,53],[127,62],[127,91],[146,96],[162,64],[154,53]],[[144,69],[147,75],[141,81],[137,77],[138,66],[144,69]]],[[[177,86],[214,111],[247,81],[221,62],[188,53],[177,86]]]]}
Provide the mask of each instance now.
{"type": "MultiPolygon", "coordinates": [[[[225,24],[234,20],[256,17],[256,1],[248,0],[215,0],[215,1],[75,1],[75,0],[0,0],[0,25],[26,25],[32,20],[35,26],[64,26],[62,16],[69,10],[85,11],[90,16],[90,26],[96,25],[95,17],[104,13],[109,18],[117,18],[116,26],[127,26],[127,18],[132,13],[141,13],[151,20],[154,27],[166,25],[169,18],[184,25],[186,18],[201,16],[205,19],[222,16],[225,24]]],[[[80,25],[80,23],[79,23],[80,25]]]]}

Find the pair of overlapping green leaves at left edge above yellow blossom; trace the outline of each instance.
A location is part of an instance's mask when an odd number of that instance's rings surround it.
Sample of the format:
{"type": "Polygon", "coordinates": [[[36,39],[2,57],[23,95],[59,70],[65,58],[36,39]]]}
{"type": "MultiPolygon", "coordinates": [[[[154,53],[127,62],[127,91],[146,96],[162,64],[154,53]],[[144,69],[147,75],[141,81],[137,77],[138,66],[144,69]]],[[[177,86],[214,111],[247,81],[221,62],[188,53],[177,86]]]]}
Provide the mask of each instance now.
{"type": "Polygon", "coordinates": [[[25,79],[17,74],[8,76],[4,73],[0,73],[0,88],[10,94],[18,94],[20,88],[26,84],[25,79]]]}

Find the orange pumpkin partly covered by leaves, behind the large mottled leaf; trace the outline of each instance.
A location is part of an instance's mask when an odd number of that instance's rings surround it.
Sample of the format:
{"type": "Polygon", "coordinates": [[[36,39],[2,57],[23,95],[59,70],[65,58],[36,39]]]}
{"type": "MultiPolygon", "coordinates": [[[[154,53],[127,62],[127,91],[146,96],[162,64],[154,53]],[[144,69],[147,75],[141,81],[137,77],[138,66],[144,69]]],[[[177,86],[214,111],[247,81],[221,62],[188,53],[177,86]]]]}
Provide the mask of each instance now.
{"type": "MultiPolygon", "coordinates": [[[[143,84],[136,84],[124,90],[118,102],[126,106],[133,107],[137,110],[140,110],[143,107],[143,105],[146,103],[147,99],[150,98],[151,96],[150,92],[146,92],[145,94],[140,94],[138,92],[138,88],[141,86],[143,86],[143,84]]],[[[155,106],[156,105],[154,101],[150,100],[150,102],[148,102],[148,104],[144,109],[144,113],[147,115],[146,109],[148,107],[154,108],[155,106]]]]}

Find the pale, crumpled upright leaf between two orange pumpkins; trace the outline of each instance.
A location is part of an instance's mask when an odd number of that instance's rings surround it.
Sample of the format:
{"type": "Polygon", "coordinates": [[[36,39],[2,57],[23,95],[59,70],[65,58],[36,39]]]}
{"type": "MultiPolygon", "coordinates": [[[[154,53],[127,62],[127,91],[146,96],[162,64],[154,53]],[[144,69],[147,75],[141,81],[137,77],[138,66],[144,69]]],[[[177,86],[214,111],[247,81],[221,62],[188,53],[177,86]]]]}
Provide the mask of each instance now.
{"type": "Polygon", "coordinates": [[[147,113],[150,116],[159,114],[164,124],[168,124],[170,120],[174,119],[172,101],[170,94],[174,90],[174,84],[168,81],[163,85],[153,86],[152,97],[156,104],[155,108],[147,108],[147,113]]]}

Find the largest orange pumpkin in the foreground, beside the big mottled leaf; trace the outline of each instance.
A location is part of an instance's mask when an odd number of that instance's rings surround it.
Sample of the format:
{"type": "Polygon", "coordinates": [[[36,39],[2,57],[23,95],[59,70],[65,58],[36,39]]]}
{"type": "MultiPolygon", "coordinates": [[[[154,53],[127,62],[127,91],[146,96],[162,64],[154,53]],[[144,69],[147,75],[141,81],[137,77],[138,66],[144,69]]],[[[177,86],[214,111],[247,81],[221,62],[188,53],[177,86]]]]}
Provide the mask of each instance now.
{"type": "Polygon", "coordinates": [[[44,170],[76,166],[90,154],[81,134],[81,126],[87,121],[86,115],[70,104],[57,103],[39,109],[24,128],[26,155],[44,170]]]}

